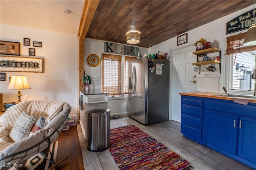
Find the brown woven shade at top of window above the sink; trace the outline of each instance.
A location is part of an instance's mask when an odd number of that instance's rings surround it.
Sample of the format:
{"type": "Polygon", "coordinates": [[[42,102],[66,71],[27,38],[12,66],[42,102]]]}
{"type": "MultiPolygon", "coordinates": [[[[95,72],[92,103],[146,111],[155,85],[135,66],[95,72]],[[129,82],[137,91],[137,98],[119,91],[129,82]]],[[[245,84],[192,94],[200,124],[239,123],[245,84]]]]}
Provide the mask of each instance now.
{"type": "Polygon", "coordinates": [[[227,37],[226,55],[256,50],[256,45],[243,46],[246,33],[227,37]]]}

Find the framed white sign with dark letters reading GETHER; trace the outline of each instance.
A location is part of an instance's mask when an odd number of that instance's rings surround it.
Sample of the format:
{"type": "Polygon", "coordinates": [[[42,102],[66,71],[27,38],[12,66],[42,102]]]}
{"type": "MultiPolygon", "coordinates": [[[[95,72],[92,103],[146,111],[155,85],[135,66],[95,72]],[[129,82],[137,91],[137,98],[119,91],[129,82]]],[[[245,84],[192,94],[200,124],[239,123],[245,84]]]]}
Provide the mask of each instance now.
{"type": "Polygon", "coordinates": [[[1,71],[40,72],[44,71],[43,58],[1,56],[1,71]]]}

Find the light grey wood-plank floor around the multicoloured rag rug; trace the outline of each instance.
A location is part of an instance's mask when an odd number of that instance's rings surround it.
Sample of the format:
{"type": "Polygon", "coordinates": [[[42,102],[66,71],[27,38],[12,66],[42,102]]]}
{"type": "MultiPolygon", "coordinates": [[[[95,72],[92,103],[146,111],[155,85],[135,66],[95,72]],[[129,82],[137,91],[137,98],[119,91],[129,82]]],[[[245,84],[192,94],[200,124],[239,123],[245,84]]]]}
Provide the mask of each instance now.
{"type": "MultiPolygon", "coordinates": [[[[110,121],[111,128],[127,125],[136,125],[139,127],[190,162],[194,166],[194,170],[252,170],[252,168],[236,160],[184,138],[180,133],[180,123],[178,122],[165,121],[153,125],[142,125],[130,117],[120,117],[119,119],[111,119],[110,121]]],[[[90,152],[87,150],[87,142],[82,134],[80,124],[77,125],[77,128],[85,169],[118,170],[108,150],[104,150],[103,152],[90,152]]]]}

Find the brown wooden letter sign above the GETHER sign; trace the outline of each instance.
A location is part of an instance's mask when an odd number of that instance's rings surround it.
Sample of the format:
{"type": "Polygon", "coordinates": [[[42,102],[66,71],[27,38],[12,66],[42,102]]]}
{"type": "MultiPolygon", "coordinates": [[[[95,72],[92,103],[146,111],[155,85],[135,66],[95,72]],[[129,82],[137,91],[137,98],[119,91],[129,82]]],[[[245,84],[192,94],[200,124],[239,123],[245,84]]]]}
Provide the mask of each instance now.
{"type": "Polygon", "coordinates": [[[0,41],[0,54],[20,55],[19,42],[0,41]]]}

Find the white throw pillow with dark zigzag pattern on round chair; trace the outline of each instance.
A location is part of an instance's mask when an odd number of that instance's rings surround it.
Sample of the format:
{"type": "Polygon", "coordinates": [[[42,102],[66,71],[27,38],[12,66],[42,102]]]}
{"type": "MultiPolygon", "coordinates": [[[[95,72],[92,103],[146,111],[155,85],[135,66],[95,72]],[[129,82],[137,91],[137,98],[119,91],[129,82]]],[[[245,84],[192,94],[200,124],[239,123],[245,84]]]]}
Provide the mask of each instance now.
{"type": "Polygon", "coordinates": [[[30,116],[25,110],[22,111],[16,123],[12,127],[12,130],[10,131],[10,138],[16,142],[28,137],[28,134],[30,133],[35,121],[36,116],[30,116]]]}

